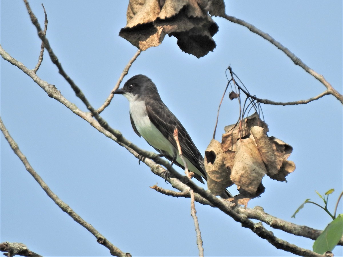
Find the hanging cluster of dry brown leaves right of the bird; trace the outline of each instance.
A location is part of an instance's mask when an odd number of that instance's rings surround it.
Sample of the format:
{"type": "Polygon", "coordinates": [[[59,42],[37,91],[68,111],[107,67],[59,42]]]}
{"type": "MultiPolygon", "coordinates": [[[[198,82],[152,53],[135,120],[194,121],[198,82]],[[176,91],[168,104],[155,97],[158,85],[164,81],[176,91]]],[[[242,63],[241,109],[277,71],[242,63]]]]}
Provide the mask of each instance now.
{"type": "Polygon", "coordinates": [[[208,188],[220,195],[233,184],[237,185],[239,204],[247,205],[251,198],[264,192],[265,174],[278,181],[295,170],[287,160],[293,148],[275,137],[268,137],[268,125],[257,113],[239,124],[225,127],[222,143],[212,139],[205,151],[208,188]]]}

